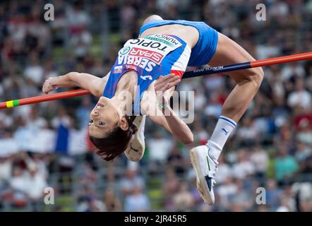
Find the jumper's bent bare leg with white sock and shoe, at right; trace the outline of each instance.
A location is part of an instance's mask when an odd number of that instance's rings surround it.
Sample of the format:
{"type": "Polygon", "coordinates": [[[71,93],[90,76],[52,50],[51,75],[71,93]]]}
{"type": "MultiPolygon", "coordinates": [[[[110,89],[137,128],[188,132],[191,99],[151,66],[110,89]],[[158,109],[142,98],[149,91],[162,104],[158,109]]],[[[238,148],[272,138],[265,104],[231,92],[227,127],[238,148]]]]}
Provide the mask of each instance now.
{"type": "MultiPolygon", "coordinates": [[[[239,44],[219,33],[217,49],[209,65],[220,66],[253,60],[255,59],[239,44]]],[[[227,138],[236,127],[237,121],[246,112],[263,80],[263,70],[260,68],[232,71],[227,74],[236,81],[236,86],[224,102],[222,116],[217,121],[208,143],[193,148],[190,153],[196,170],[198,190],[204,201],[210,205],[215,202],[213,185],[217,172],[217,159],[227,138]]]]}

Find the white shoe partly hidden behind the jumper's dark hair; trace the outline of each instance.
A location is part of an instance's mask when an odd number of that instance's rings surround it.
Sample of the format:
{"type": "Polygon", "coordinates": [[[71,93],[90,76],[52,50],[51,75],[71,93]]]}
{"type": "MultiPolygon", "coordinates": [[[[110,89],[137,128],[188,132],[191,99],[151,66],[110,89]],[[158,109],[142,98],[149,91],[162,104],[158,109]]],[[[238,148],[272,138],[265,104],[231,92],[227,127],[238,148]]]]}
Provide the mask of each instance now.
{"type": "Polygon", "coordinates": [[[134,119],[133,124],[136,124],[138,131],[134,134],[132,140],[130,141],[129,147],[125,150],[125,155],[128,160],[133,162],[138,162],[144,155],[145,151],[145,141],[144,141],[144,128],[145,128],[145,115],[137,116],[134,119]]]}

